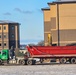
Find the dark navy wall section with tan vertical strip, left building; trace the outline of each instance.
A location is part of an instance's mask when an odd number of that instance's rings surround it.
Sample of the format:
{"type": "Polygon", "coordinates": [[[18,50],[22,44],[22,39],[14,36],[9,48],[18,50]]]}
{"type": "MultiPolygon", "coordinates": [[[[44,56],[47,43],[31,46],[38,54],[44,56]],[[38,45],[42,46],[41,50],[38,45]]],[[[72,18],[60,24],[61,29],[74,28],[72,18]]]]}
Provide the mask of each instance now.
{"type": "Polygon", "coordinates": [[[9,48],[11,48],[11,46],[13,46],[14,48],[19,48],[19,25],[18,24],[9,25],[9,48]]]}

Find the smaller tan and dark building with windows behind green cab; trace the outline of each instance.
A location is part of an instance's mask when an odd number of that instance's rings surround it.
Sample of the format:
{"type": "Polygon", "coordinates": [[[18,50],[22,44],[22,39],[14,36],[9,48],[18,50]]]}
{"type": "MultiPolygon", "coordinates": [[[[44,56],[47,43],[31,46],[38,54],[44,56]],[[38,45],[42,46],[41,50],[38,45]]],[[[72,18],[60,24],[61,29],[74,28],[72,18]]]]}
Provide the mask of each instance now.
{"type": "Polygon", "coordinates": [[[0,20],[0,50],[19,48],[19,23],[0,20]]]}

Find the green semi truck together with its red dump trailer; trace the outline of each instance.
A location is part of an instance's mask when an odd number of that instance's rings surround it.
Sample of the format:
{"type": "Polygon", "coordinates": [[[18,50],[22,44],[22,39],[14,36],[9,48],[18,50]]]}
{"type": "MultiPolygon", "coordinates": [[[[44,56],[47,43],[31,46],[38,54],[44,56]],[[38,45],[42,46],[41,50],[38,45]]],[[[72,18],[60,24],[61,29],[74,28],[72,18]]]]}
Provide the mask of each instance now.
{"type": "MultiPolygon", "coordinates": [[[[40,63],[45,62],[45,60],[59,61],[61,64],[67,62],[71,64],[76,63],[76,46],[27,46],[27,52],[23,59],[19,59],[18,64],[22,65],[34,65],[37,60],[40,63]]],[[[0,51],[0,64],[9,63],[13,59],[14,53],[11,50],[1,50],[0,51]]],[[[18,59],[18,58],[17,58],[18,59]]]]}

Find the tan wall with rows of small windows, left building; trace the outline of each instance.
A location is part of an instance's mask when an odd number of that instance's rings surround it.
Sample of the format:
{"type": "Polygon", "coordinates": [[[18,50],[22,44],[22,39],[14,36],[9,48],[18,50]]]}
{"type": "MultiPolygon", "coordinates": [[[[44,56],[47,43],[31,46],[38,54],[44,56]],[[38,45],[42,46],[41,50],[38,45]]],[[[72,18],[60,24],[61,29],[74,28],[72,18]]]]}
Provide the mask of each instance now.
{"type": "Polygon", "coordinates": [[[8,49],[8,24],[0,24],[0,49],[8,49]]]}

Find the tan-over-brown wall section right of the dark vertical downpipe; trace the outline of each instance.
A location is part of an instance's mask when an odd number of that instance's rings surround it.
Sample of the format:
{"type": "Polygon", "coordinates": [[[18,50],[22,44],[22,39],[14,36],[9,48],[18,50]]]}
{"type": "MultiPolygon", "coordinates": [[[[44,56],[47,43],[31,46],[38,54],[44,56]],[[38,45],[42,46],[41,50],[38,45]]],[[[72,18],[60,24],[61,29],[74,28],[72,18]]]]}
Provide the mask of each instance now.
{"type": "Polygon", "coordinates": [[[60,43],[76,43],[76,3],[59,4],[60,43]]]}

